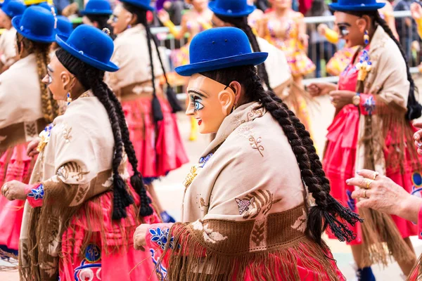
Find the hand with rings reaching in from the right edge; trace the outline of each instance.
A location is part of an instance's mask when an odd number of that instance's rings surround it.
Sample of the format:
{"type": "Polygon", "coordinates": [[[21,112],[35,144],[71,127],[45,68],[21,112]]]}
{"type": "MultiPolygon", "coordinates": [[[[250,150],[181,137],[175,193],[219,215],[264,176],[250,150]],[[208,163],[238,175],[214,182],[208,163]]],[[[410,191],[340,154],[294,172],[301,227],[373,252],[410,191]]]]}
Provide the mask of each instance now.
{"type": "Polygon", "coordinates": [[[363,178],[350,178],[346,183],[360,188],[352,192],[352,198],[364,198],[364,200],[357,202],[358,208],[376,209],[409,221],[418,221],[418,211],[421,208],[422,198],[410,195],[390,178],[378,175],[375,171],[362,170],[358,171],[357,174],[363,178]]]}

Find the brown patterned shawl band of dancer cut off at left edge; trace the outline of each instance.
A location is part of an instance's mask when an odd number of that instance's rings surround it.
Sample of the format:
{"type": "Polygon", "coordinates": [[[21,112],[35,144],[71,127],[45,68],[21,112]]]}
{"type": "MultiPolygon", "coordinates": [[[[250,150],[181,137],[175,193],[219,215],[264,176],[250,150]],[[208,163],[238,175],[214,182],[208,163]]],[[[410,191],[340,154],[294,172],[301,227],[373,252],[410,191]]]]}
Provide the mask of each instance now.
{"type": "Polygon", "coordinates": [[[37,138],[47,122],[44,118],[35,121],[11,124],[0,129],[0,152],[20,143],[27,143],[37,138]]]}

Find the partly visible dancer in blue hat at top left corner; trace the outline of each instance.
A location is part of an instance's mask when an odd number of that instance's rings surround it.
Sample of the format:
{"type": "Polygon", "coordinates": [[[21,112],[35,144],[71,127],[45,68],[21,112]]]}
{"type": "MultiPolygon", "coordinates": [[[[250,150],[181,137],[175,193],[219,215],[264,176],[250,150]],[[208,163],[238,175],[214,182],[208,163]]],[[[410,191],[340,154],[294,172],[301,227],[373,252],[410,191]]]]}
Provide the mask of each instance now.
{"type": "Polygon", "coordinates": [[[0,71],[8,70],[18,58],[16,57],[15,41],[16,30],[12,25],[12,18],[15,15],[22,15],[25,11],[25,4],[18,0],[7,1],[1,6],[0,21],[5,29],[0,37],[0,71]]]}

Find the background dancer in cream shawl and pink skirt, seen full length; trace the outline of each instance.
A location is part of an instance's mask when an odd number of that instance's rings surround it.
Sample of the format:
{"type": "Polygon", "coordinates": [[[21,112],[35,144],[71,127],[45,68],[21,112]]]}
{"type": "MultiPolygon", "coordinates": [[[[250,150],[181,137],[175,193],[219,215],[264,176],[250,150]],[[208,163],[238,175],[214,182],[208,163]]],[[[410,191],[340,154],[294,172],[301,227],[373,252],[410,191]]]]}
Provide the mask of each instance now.
{"type": "Polygon", "coordinates": [[[120,70],[110,74],[107,83],[122,100],[139,159],[138,169],[145,176],[148,191],[162,219],[171,221],[173,218],[155,195],[153,181],[188,162],[174,115],[178,105],[174,93],[169,92],[170,85],[167,83],[167,101],[157,83],[158,77],[165,75],[165,69],[160,48],[146,21],[146,12],[153,10],[150,1],[121,2],[115,8],[111,24],[117,34],[111,60],[120,70]]]}

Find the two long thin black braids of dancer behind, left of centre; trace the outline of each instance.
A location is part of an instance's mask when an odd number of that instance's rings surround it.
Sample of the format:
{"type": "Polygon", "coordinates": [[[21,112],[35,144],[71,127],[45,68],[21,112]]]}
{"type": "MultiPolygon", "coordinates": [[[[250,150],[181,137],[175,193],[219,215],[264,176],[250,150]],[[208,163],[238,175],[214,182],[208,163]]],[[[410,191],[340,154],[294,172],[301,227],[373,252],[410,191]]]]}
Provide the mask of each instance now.
{"type": "Polygon", "coordinates": [[[154,74],[154,64],[153,64],[153,48],[151,44],[151,40],[155,44],[155,50],[157,51],[158,59],[160,60],[160,65],[162,69],[162,73],[164,74],[165,81],[167,83],[167,99],[172,106],[172,112],[178,112],[181,110],[181,107],[179,103],[177,102],[176,96],[174,92],[172,91],[172,87],[170,86],[168,80],[167,80],[167,74],[165,72],[164,64],[162,63],[162,58],[160,55],[160,51],[158,49],[158,41],[151,33],[150,26],[148,25],[148,20],[146,18],[146,9],[134,6],[132,4],[128,4],[127,2],[123,2],[123,8],[129,11],[129,13],[132,13],[136,15],[136,24],[141,24],[143,27],[145,27],[146,30],[146,41],[148,43],[148,53],[150,58],[150,64],[151,64],[151,82],[153,84],[153,117],[154,121],[158,122],[163,119],[162,110],[160,102],[157,98],[157,93],[155,89],[155,74],[154,74]]]}

